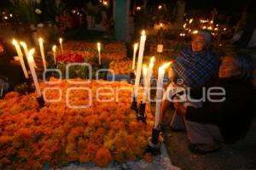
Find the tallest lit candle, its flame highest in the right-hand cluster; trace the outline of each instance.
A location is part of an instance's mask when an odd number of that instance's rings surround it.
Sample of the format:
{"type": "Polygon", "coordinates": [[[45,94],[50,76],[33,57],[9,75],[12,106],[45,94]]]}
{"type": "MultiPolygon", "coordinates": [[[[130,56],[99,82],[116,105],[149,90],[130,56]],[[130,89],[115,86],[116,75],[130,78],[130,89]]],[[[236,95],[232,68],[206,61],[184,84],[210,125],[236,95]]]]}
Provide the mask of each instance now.
{"type": "Polygon", "coordinates": [[[136,79],[135,79],[135,97],[138,96],[138,87],[141,79],[141,73],[142,73],[142,65],[143,65],[143,53],[144,53],[144,47],[146,42],[146,34],[145,31],[142,31],[142,36],[140,40],[140,47],[139,47],[139,53],[138,53],[138,59],[137,59],[137,71],[136,71],[136,79]]]}

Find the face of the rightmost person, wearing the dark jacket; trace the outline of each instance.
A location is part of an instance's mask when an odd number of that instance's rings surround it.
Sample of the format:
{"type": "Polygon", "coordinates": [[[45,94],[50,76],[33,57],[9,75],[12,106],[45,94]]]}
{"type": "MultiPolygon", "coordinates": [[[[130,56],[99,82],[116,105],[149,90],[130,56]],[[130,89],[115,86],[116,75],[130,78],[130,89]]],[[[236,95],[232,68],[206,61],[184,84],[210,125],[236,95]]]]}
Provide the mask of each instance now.
{"type": "Polygon", "coordinates": [[[241,71],[236,64],[236,60],[231,56],[225,56],[219,66],[218,77],[230,78],[241,75],[241,71]]]}

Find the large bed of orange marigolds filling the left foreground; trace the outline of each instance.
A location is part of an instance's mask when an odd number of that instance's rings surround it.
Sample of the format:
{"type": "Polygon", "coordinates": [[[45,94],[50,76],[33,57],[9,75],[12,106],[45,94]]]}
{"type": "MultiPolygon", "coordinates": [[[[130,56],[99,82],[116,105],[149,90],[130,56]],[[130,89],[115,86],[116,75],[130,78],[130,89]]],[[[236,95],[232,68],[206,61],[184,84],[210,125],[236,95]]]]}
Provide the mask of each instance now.
{"type": "Polygon", "coordinates": [[[48,88],[41,109],[36,94],[11,92],[0,100],[0,169],[38,169],[45,163],[61,167],[73,161],[107,167],[112,161],[143,157],[153,116],[147,108],[147,124],[137,122],[136,112],[130,109],[130,84],[91,81],[74,85],[53,78],[50,82],[56,83],[40,82],[42,92],[48,88]],[[105,95],[97,94],[99,88],[105,95]],[[72,106],[91,105],[71,108],[67,98],[72,106]],[[96,98],[114,100],[102,102],[96,98]]]}

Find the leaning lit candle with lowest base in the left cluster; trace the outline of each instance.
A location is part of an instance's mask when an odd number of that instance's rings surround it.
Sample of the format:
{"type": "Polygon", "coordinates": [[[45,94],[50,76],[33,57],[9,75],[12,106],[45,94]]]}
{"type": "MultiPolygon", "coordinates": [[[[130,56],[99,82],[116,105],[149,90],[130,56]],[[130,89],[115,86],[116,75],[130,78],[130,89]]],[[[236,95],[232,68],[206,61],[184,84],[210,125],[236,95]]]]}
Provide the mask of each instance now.
{"type": "Polygon", "coordinates": [[[33,79],[33,82],[34,82],[34,85],[35,85],[35,88],[36,88],[36,92],[38,94],[38,97],[41,97],[42,94],[41,94],[41,91],[40,91],[40,88],[39,88],[38,77],[37,77],[35,68],[33,66],[33,54],[34,54],[34,52],[35,52],[34,48],[29,50],[28,56],[27,56],[27,61],[28,61],[28,65],[29,65],[29,68],[30,68],[30,71],[31,71],[31,74],[32,74],[32,79],[33,79]]]}

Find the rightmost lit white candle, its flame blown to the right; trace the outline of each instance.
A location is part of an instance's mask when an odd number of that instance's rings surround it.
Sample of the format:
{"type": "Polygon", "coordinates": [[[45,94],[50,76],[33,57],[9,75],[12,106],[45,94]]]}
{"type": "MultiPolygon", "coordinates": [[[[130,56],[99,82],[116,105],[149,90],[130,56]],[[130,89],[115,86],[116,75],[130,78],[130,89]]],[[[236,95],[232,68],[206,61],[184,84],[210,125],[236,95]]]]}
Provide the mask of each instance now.
{"type": "Polygon", "coordinates": [[[161,105],[161,99],[163,94],[163,82],[164,82],[164,76],[165,76],[165,69],[169,65],[171,65],[171,63],[166,63],[165,65],[160,66],[158,70],[154,128],[157,128],[160,122],[160,105],[161,105]]]}

